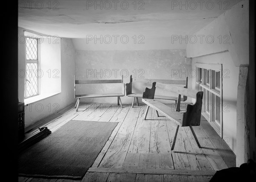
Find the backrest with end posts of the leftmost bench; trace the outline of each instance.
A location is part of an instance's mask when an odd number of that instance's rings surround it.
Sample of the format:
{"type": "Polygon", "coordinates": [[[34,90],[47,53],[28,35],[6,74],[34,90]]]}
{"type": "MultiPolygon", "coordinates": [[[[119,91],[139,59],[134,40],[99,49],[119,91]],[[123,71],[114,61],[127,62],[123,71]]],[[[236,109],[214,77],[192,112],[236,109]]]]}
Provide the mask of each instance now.
{"type": "Polygon", "coordinates": [[[74,76],[74,94],[75,94],[74,96],[75,96],[75,98],[76,98],[76,84],[122,84],[122,88],[125,90],[125,88],[124,88],[125,85],[123,84],[123,76],[122,76],[122,79],[119,79],[119,80],[118,79],[116,79],[116,80],[76,80],[75,76],[74,76]]]}

